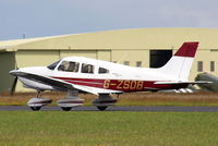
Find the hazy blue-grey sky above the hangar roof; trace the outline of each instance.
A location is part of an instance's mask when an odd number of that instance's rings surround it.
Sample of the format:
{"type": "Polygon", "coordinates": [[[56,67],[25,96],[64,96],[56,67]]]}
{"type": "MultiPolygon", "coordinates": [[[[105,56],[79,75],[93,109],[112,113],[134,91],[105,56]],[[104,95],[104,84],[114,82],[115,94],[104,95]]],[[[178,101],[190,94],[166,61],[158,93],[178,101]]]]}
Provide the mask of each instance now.
{"type": "Polygon", "coordinates": [[[218,0],[0,0],[0,40],[126,28],[218,27],[218,0]]]}

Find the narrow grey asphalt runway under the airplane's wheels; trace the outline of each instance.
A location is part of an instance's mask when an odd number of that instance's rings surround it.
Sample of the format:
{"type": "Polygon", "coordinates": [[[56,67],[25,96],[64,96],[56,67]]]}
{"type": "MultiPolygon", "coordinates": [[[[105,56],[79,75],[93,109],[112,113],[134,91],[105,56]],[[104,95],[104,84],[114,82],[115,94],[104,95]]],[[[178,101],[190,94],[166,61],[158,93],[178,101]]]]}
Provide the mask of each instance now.
{"type": "MultiPolygon", "coordinates": [[[[58,106],[47,106],[43,111],[61,111],[58,106]]],[[[0,106],[0,111],[31,111],[27,106],[0,106]]],[[[96,107],[76,107],[71,111],[99,111],[96,107]]],[[[218,112],[218,107],[175,107],[175,106],[111,106],[106,111],[145,111],[145,112],[218,112]]],[[[104,112],[104,111],[99,111],[104,112]]]]}

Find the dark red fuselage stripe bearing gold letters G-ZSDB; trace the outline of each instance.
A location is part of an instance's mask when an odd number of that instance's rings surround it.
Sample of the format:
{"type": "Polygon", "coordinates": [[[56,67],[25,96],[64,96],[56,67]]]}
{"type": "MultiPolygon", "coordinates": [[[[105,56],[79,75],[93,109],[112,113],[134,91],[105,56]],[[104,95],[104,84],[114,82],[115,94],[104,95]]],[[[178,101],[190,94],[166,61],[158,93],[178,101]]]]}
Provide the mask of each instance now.
{"type": "Polygon", "coordinates": [[[98,80],[98,78],[72,78],[72,77],[53,77],[64,82],[98,87],[104,89],[122,90],[122,92],[145,92],[159,89],[178,89],[184,88],[187,84],[154,84],[156,81],[132,81],[132,80],[98,80]]]}

